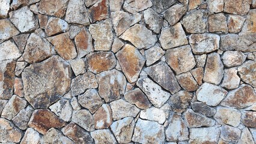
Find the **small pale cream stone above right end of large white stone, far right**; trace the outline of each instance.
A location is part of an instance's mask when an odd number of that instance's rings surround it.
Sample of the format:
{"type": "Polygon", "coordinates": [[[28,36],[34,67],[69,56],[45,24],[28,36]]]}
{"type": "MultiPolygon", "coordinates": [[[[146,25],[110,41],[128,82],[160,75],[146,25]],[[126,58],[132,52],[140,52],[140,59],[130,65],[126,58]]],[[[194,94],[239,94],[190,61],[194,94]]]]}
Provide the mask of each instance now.
{"type": "Polygon", "coordinates": [[[224,79],[221,87],[227,89],[236,89],[239,87],[240,77],[237,76],[236,68],[228,68],[224,70],[224,79]]]}

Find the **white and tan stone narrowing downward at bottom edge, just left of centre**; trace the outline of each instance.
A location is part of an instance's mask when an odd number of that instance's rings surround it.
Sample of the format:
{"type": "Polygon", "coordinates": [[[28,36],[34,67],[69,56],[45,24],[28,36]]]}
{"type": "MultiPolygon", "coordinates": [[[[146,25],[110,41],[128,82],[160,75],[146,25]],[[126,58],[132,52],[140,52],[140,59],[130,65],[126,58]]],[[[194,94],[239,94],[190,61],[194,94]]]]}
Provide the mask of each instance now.
{"type": "Polygon", "coordinates": [[[132,117],[127,117],[113,122],[111,130],[113,131],[118,143],[129,143],[132,140],[135,121],[132,117]]]}

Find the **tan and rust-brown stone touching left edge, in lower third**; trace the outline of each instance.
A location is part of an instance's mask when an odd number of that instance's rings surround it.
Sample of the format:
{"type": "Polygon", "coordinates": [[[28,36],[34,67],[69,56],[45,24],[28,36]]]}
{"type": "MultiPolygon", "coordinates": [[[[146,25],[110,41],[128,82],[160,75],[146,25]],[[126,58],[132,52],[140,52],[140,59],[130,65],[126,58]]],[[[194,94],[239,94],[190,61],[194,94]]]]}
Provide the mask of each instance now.
{"type": "Polygon", "coordinates": [[[13,95],[8,103],[5,105],[4,109],[2,110],[2,118],[6,119],[13,119],[20,110],[25,108],[27,105],[26,100],[24,98],[20,98],[17,95],[13,95]]]}

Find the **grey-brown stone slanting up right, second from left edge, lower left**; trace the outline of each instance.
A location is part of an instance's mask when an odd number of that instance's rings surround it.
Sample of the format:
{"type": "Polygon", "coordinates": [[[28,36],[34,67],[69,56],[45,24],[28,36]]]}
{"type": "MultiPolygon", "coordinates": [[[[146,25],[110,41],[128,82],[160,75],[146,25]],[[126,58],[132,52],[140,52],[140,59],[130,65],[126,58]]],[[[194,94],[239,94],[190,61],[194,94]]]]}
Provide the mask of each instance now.
{"type": "Polygon", "coordinates": [[[21,130],[26,130],[26,128],[28,128],[29,119],[33,112],[34,109],[31,106],[27,106],[26,108],[20,110],[20,112],[14,116],[12,121],[21,130]]]}

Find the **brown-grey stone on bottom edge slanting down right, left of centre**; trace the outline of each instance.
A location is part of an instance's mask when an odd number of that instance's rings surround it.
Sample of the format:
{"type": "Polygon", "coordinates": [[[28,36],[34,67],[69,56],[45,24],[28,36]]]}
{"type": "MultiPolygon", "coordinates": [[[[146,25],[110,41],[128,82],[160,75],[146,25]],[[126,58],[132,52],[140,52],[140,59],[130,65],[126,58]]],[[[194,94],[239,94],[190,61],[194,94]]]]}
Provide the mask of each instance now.
{"type": "Polygon", "coordinates": [[[74,124],[73,122],[66,125],[66,127],[62,128],[61,131],[65,136],[69,137],[69,139],[72,139],[75,143],[93,143],[93,138],[91,138],[90,133],[74,124]]]}

